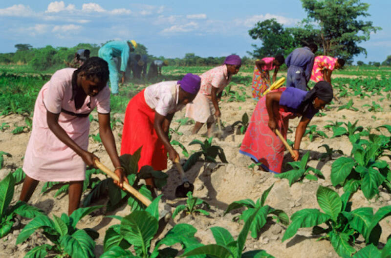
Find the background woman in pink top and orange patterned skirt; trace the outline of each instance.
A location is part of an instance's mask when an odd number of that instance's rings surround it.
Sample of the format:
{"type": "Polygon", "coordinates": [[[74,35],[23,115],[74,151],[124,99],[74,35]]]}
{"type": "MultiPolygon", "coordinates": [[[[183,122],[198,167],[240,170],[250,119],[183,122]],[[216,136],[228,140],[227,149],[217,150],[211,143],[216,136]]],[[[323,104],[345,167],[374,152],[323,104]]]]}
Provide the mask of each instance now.
{"type": "Polygon", "coordinates": [[[262,93],[270,86],[269,71],[274,69],[273,82],[277,79],[277,72],[285,59],[282,55],[277,55],[274,58],[262,58],[255,61],[253,75],[253,99],[259,100],[262,93]]]}

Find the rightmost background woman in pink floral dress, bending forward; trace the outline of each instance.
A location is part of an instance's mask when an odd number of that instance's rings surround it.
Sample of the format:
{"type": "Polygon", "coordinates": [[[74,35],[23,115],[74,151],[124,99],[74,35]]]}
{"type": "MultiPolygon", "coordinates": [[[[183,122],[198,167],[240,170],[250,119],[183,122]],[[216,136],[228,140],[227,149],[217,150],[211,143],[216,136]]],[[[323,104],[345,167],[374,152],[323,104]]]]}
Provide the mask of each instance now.
{"type": "Polygon", "coordinates": [[[311,80],[318,82],[326,80],[331,83],[331,74],[335,69],[344,67],[345,60],[328,56],[317,56],[312,67],[311,80]]]}

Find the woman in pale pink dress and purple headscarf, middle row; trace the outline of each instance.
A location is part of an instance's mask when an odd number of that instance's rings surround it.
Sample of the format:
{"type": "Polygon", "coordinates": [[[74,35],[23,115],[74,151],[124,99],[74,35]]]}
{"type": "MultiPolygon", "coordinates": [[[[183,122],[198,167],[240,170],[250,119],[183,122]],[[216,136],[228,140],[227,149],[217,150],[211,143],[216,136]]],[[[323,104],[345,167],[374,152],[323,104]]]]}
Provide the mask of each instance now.
{"type": "Polygon", "coordinates": [[[215,117],[220,117],[221,112],[218,108],[218,99],[225,86],[227,86],[232,78],[239,72],[241,59],[238,55],[230,55],[225,58],[224,63],[220,66],[212,68],[202,75],[201,87],[193,103],[186,105],[187,118],[195,120],[195,125],[192,133],[196,134],[201,129],[204,123],[207,124],[208,137],[212,136],[215,117]]]}

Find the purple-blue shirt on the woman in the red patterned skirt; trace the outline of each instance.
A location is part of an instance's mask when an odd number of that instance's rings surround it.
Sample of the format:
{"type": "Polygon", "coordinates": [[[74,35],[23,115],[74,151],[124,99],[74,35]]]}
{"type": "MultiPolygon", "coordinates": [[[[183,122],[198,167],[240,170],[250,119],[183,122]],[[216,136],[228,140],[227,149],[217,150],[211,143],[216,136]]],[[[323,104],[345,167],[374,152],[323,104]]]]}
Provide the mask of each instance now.
{"type": "MultiPolygon", "coordinates": [[[[282,106],[286,106],[289,112],[300,114],[298,108],[303,102],[307,93],[307,91],[295,87],[288,87],[282,92],[279,104],[282,106]]],[[[303,115],[307,119],[312,119],[318,112],[318,109],[315,109],[312,104],[309,104],[308,109],[305,111],[304,114],[301,115],[303,115]]]]}

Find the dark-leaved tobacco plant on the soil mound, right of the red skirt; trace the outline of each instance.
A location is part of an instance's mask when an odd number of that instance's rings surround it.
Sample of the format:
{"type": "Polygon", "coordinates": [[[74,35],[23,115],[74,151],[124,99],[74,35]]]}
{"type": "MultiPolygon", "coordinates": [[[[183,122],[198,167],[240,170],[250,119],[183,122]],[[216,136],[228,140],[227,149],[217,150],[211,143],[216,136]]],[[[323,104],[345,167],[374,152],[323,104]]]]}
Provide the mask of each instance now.
{"type": "Polygon", "coordinates": [[[195,162],[198,161],[201,155],[204,156],[206,161],[216,162],[216,157],[218,156],[218,158],[220,158],[223,163],[228,163],[223,149],[220,146],[212,145],[212,139],[213,137],[210,137],[205,139],[204,142],[194,139],[189,143],[189,145],[199,144],[201,146],[201,150],[193,153],[189,159],[186,160],[185,164],[183,165],[183,170],[189,170],[195,164],[195,162]]]}

